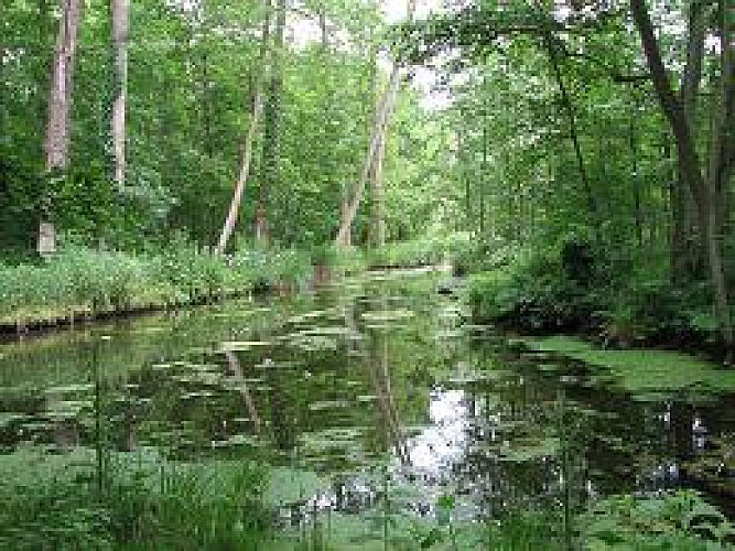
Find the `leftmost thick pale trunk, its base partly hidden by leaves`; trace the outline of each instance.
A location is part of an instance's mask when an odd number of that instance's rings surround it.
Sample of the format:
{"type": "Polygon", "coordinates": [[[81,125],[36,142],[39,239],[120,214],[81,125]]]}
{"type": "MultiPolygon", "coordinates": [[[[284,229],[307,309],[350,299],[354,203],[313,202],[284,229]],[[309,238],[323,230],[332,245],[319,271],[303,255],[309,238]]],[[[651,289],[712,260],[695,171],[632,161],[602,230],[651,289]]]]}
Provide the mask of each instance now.
{"type": "MultiPolygon", "coordinates": [[[[46,172],[51,179],[62,176],[68,168],[74,61],[80,21],[82,0],[64,0],[51,69],[45,140],[46,172]]],[[[41,210],[37,250],[42,255],[52,253],[56,249],[56,233],[51,219],[52,205],[48,192],[42,199],[41,210]]]]}

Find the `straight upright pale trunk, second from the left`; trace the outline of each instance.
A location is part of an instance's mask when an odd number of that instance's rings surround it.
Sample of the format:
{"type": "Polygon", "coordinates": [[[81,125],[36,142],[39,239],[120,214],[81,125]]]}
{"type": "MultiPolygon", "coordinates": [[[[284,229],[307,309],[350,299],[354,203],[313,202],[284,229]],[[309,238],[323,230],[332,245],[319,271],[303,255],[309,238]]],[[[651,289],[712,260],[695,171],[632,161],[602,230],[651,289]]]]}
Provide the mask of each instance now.
{"type": "Polygon", "coordinates": [[[119,188],[125,186],[126,175],[129,14],[129,0],[112,0],[112,47],[115,48],[112,150],[115,152],[115,182],[119,188]]]}

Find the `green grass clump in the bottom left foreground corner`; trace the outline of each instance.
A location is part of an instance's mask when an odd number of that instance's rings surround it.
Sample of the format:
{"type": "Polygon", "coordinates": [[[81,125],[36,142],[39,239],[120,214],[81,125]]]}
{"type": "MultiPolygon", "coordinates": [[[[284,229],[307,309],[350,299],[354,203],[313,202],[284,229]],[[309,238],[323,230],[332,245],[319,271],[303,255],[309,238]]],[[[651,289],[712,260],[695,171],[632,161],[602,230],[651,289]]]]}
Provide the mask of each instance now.
{"type": "Polygon", "coordinates": [[[270,525],[267,471],[248,462],[120,454],[100,480],[89,450],[24,450],[0,473],[3,549],[250,549],[270,525]]]}

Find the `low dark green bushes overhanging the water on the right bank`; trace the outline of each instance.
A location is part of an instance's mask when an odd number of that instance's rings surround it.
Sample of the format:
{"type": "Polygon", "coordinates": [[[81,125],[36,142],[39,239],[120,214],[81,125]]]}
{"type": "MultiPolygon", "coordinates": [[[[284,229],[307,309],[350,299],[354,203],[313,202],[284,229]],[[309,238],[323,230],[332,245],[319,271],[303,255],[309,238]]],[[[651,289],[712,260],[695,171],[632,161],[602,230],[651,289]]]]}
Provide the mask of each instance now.
{"type": "Polygon", "coordinates": [[[478,321],[586,333],[616,346],[716,339],[707,283],[673,284],[659,259],[619,258],[580,238],[495,256],[501,261],[472,274],[467,285],[478,321]]]}

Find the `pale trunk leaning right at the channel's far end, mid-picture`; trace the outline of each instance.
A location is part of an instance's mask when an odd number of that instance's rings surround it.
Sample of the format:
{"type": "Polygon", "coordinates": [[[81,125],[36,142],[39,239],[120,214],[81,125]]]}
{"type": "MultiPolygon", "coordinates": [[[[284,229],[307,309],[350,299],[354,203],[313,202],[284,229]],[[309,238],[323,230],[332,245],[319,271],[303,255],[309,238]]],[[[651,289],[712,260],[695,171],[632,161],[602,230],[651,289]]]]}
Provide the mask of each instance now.
{"type": "MultiPolygon", "coordinates": [[[[415,12],[417,0],[408,0],[408,19],[413,21],[413,14],[415,12]]],[[[367,184],[368,177],[370,176],[370,171],[375,164],[375,159],[380,149],[380,143],[382,142],[383,134],[386,132],[386,126],[388,125],[389,114],[392,109],[393,101],[396,100],[396,95],[398,94],[398,88],[401,84],[400,79],[400,69],[401,66],[399,63],[393,64],[393,68],[390,73],[390,78],[388,80],[388,87],[383,93],[382,99],[378,106],[378,110],[375,118],[375,128],[372,129],[372,134],[368,143],[367,154],[365,155],[365,161],[363,163],[363,172],[360,174],[360,180],[355,186],[355,193],[352,198],[343,205],[342,216],[339,222],[339,231],[337,238],[335,239],[335,245],[337,247],[348,247],[350,244],[350,235],[353,229],[353,222],[355,216],[357,216],[357,210],[360,207],[360,202],[363,201],[363,194],[365,193],[365,185],[367,184]]]]}

